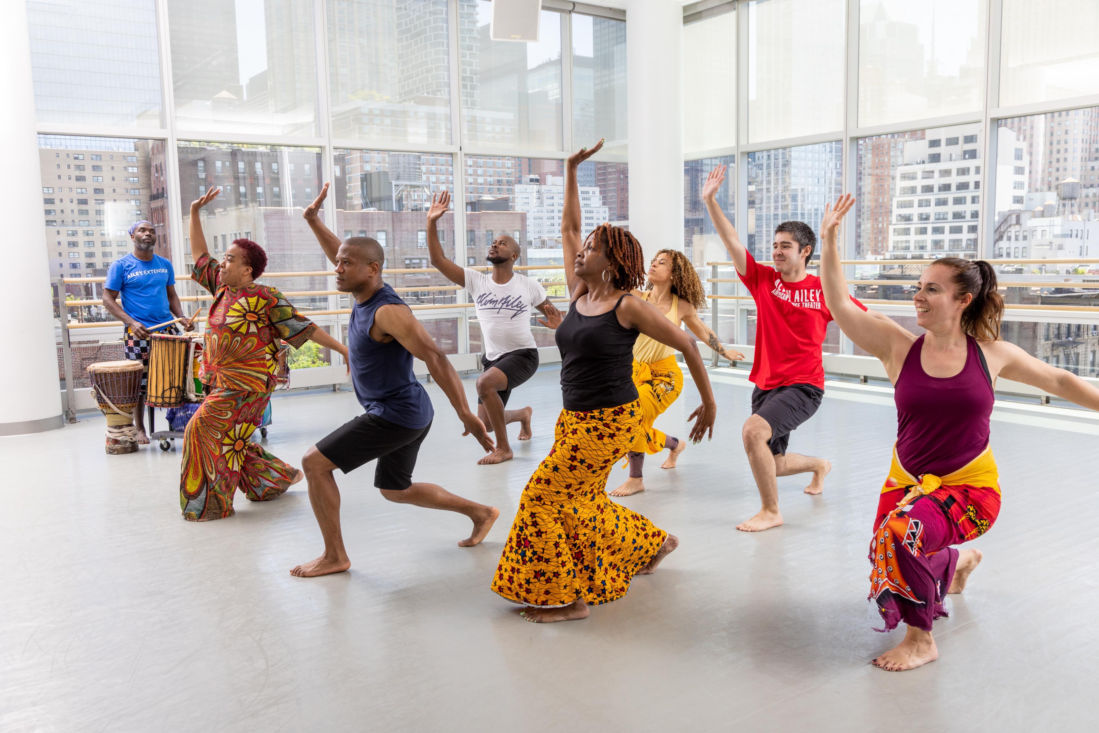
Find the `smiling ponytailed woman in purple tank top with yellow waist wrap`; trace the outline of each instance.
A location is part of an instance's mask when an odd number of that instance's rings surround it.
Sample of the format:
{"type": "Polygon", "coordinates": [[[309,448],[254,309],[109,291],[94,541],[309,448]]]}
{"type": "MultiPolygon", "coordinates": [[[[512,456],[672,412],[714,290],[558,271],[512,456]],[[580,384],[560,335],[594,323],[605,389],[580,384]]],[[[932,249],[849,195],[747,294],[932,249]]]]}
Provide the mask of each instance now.
{"type": "Polygon", "coordinates": [[[946,257],[923,270],[912,300],[917,338],[852,303],[836,234],[854,197],[826,208],[821,224],[821,281],[836,324],[881,359],[895,388],[897,443],[881,488],[870,541],[870,599],[904,640],[879,655],[882,669],[913,669],[939,657],[932,622],[943,598],[965,589],[979,549],[951,545],[979,537],[1000,511],[1000,486],[988,444],[997,377],[1021,381],[1099,410],[1099,389],[1000,341],[1003,299],[984,260],[946,257]]]}

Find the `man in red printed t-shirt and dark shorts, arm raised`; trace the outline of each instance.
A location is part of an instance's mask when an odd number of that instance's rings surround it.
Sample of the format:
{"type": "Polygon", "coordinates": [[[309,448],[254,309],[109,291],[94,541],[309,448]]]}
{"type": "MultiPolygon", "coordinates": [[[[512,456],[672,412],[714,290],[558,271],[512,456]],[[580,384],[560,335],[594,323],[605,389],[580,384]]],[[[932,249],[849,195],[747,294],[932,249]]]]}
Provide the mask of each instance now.
{"type": "Polygon", "coordinates": [[[806,493],[820,493],[824,476],[832,469],[824,458],[786,452],[790,432],[813,417],[824,397],[822,345],[832,314],[824,306],[820,278],[806,273],[806,263],[817,245],[812,227],[800,221],[779,224],[771,244],[775,266],[761,265],[741,244],[736,230],[718,206],[715,197],[724,179],[725,166],[711,170],[702,200],[736,265],[736,274],[756,303],[755,356],[748,376],[756,387],[752,391],[752,417],[744,422],[743,435],[763,508],[736,529],[759,532],[782,523],[778,476],[812,473],[806,493]]]}

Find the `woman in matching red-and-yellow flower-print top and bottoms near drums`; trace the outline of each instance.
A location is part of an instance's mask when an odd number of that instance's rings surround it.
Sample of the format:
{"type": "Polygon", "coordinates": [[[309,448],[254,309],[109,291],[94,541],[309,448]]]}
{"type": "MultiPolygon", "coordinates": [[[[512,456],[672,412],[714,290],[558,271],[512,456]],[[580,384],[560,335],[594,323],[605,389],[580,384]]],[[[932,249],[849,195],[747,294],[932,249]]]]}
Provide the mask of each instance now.
{"type": "Polygon", "coordinates": [[[300,470],[251,441],[275,388],[280,341],[295,348],[314,341],[347,357],[340,342],[282,293],[255,282],[267,265],[255,242],[234,241],[221,263],[210,256],[199,211],[220,191],[211,189],[191,203],[191,277],[214,296],[202,355],[207,396],[184,433],[179,506],[192,522],[232,517],[237,489],[252,501],[268,501],[302,479],[300,470]]]}

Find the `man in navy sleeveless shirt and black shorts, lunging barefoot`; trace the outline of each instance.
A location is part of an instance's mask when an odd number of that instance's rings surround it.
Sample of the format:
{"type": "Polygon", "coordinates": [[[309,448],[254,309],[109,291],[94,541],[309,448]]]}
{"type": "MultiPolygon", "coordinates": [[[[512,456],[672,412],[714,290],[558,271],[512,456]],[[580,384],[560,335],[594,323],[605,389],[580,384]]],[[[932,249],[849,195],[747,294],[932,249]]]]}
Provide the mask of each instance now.
{"type": "Polygon", "coordinates": [[[412,481],[417,454],[434,411],[426,390],[412,374],[412,358],[422,359],[451,400],[463,435],[473,433],[485,451],[495,446],[485,424],[469,410],[466,392],[449,359],[391,287],[381,280],[385,253],[367,236],[341,243],[318,216],[328,185],[304,213],[324,254],[336,266],[336,288],[355,300],[347,327],[347,351],[355,396],[366,412],[309,448],[301,467],[309,480],[309,500],[324,535],[324,554],[299,565],[291,575],[311,577],[351,567],[340,527],[340,488],[334,473],[347,474],[377,459],[374,485],[389,501],[445,509],[468,517],[473,533],[458,544],[476,545],[500,510],[455,496],[435,484],[412,481]]]}

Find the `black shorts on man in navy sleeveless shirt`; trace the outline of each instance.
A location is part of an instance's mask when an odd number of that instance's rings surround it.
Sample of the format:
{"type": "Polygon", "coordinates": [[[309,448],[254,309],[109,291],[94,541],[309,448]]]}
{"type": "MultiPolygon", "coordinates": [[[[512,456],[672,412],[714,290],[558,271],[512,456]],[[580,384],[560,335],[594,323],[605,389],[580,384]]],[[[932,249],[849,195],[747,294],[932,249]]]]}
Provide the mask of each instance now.
{"type": "Polygon", "coordinates": [[[378,459],[374,485],[388,491],[403,491],[412,486],[412,469],[420,444],[428,436],[425,427],[404,427],[374,414],[363,414],[345,422],[317,442],[317,449],[345,474],[378,459]]]}

